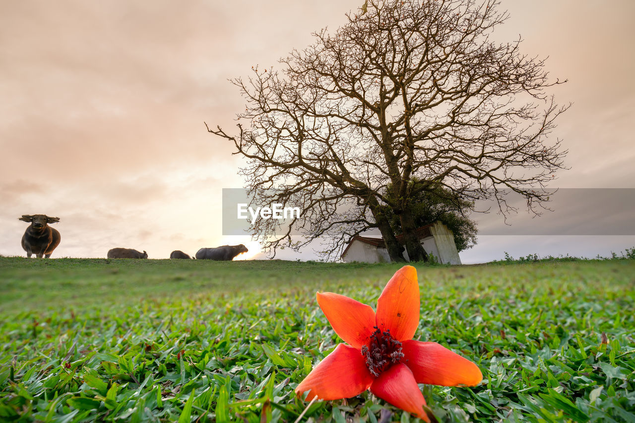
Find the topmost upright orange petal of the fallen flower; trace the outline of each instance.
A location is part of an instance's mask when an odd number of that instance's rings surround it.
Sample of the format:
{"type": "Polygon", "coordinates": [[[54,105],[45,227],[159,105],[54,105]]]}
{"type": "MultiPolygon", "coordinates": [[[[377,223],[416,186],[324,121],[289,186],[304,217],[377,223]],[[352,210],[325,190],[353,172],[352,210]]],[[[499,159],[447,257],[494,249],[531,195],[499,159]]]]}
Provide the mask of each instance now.
{"type": "Polygon", "coordinates": [[[403,266],[377,300],[377,327],[390,330],[397,341],[411,339],[419,325],[419,304],[417,269],[403,266]]]}

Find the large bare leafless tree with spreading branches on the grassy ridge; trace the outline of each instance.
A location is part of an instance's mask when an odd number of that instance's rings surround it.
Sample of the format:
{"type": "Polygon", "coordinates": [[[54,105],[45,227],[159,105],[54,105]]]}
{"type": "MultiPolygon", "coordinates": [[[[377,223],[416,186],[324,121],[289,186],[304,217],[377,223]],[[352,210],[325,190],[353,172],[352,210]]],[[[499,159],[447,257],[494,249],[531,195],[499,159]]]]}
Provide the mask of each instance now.
{"type": "MultiPolygon", "coordinates": [[[[538,212],[563,168],[560,141],[547,143],[559,107],[545,89],[544,60],[523,55],[520,39],[500,44],[505,21],[487,0],[368,0],[334,34],[232,81],[247,101],[237,134],[209,129],[246,157],[248,192],[261,202],[302,204],[290,223],[308,240],[337,232],[327,254],[370,227],[403,260],[385,211],[399,216],[408,256],[426,258],[408,204],[439,187],[467,201],[520,193],[538,212]],[[415,182],[416,181],[416,182],[415,182]],[[391,195],[386,195],[391,186],[391,195]],[[338,205],[347,202],[345,212],[338,205]]],[[[259,225],[259,226],[258,226],[259,225]]],[[[290,231],[269,238],[293,245],[290,231]]],[[[290,226],[290,228],[291,228],[290,226]]]]}

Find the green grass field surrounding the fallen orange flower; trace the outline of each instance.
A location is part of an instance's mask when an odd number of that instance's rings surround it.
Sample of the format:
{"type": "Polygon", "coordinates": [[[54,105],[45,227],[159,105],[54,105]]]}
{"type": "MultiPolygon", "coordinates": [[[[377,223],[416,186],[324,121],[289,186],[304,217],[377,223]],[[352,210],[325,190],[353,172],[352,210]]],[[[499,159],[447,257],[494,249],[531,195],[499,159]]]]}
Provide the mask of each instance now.
{"type": "MultiPolygon", "coordinates": [[[[374,307],[399,267],[0,257],[0,421],[293,422],[341,342],[316,290],[374,307]]],[[[421,386],[439,422],[635,421],[635,261],[417,269],[415,339],[485,378],[421,386]]],[[[417,419],[366,392],[303,420],[417,419]]]]}

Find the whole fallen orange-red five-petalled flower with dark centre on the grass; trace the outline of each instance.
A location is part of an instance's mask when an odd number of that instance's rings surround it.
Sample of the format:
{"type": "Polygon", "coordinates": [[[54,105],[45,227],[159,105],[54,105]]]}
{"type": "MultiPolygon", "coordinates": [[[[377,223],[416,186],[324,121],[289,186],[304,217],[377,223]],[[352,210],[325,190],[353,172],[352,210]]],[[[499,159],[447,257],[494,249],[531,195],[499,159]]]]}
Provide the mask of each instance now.
{"type": "Polygon", "coordinates": [[[377,312],[333,292],[317,294],[333,330],[346,342],[300,382],[307,401],[371,393],[429,422],[418,383],[476,386],[483,379],[472,361],[436,342],[413,341],[419,325],[419,284],[412,266],[399,269],[377,300],[377,312]]]}

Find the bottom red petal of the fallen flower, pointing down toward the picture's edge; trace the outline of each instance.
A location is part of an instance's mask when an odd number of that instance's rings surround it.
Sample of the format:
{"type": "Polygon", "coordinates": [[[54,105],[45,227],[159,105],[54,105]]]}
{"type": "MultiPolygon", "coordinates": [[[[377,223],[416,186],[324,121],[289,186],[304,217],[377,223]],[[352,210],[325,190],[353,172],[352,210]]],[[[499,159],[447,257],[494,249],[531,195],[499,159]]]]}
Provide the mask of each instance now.
{"type": "Polygon", "coordinates": [[[425,399],[408,366],[398,363],[380,374],[370,386],[371,393],[395,407],[429,422],[424,411],[425,399]]]}

